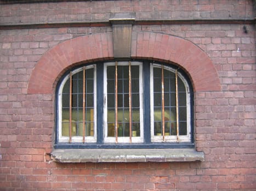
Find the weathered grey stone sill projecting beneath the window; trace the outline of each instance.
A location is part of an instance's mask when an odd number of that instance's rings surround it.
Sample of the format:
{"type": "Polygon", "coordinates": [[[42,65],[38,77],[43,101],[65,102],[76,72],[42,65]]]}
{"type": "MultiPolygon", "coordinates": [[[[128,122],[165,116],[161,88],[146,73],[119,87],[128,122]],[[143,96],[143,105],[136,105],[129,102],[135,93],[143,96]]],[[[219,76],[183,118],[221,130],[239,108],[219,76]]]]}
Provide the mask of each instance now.
{"type": "Polygon", "coordinates": [[[203,161],[204,153],[192,148],[56,149],[51,158],[59,163],[191,162],[203,161]]]}

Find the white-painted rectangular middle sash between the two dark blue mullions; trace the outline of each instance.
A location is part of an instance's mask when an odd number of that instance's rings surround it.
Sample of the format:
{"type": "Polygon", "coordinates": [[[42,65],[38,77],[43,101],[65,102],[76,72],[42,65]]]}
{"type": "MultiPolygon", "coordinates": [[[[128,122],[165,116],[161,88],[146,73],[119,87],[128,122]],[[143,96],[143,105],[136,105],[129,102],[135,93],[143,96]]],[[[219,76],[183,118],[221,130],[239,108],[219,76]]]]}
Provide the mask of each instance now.
{"type": "MultiPolygon", "coordinates": [[[[129,112],[128,111],[129,107],[127,108],[127,106],[126,106],[126,108],[124,109],[124,108],[121,108],[121,107],[117,106],[117,110],[116,110],[116,93],[117,92],[115,92],[115,93],[112,92],[112,94],[109,94],[107,92],[107,81],[108,81],[108,79],[107,79],[107,67],[116,66],[116,64],[117,64],[117,69],[118,69],[118,66],[127,66],[127,65],[129,65],[129,62],[107,62],[107,63],[104,63],[104,82],[103,82],[104,83],[103,84],[104,85],[104,106],[103,106],[103,110],[104,110],[104,124],[103,124],[103,128],[104,128],[104,142],[105,143],[115,143],[116,142],[116,143],[120,143],[120,144],[122,144],[122,143],[141,143],[141,142],[144,141],[144,126],[143,126],[143,108],[144,108],[143,107],[143,69],[142,69],[143,64],[141,62],[130,62],[131,66],[133,66],[133,65],[138,65],[139,66],[139,76],[138,76],[139,77],[139,106],[136,109],[138,109],[138,112],[139,112],[139,114],[137,114],[137,115],[139,115],[139,121],[137,121],[137,122],[138,122],[138,125],[140,126],[139,127],[139,133],[133,130],[133,132],[131,134],[131,138],[129,137],[129,135],[128,136],[116,136],[116,132],[119,133],[118,132],[118,130],[120,129],[119,124],[124,124],[124,121],[120,121],[119,118],[118,118],[118,121],[116,121],[116,118],[117,118],[116,111],[118,112],[118,115],[121,115],[121,116],[126,115],[127,117],[125,117],[125,120],[129,121],[129,118],[128,118],[127,114],[120,114],[120,112],[126,112],[124,110],[127,110],[127,112],[129,112]],[[112,111],[110,111],[110,109],[107,108],[108,107],[108,103],[107,102],[109,100],[108,96],[110,96],[110,95],[111,95],[111,99],[115,99],[115,106],[111,108],[112,111]],[[114,108],[115,108],[115,110],[114,110],[114,108]],[[114,112],[115,115],[110,114],[110,112],[114,112]],[[114,134],[112,133],[113,135],[110,135],[109,132],[108,132],[108,130],[109,130],[109,127],[108,127],[109,124],[107,122],[108,115],[112,115],[112,117],[115,118],[115,122],[113,123],[113,130],[115,131],[115,133],[114,134]],[[116,124],[116,123],[118,123],[118,124],[116,124]],[[136,133],[137,133],[137,135],[136,135],[136,133]]],[[[113,74],[113,75],[116,75],[116,74],[113,74]]],[[[121,80],[122,79],[118,78],[118,81],[121,81],[121,80]]],[[[116,85],[115,81],[116,81],[116,79],[113,80],[113,83],[115,83],[115,84],[112,84],[112,86],[116,85]]],[[[122,96],[122,94],[124,94],[124,93],[118,92],[118,95],[122,96]]],[[[128,96],[128,95],[126,94],[125,96],[128,96]]],[[[129,97],[130,97],[130,95],[129,95],[129,97]]],[[[131,109],[132,109],[132,115],[135,116],[136,114],[133,111],[133,107],[131,109]]],[[[126,123],[126,124],[128,124],[128,123],[126,123]]],[[[134,127],[132,127],[132,128],[134,128],[134,127]]]]}

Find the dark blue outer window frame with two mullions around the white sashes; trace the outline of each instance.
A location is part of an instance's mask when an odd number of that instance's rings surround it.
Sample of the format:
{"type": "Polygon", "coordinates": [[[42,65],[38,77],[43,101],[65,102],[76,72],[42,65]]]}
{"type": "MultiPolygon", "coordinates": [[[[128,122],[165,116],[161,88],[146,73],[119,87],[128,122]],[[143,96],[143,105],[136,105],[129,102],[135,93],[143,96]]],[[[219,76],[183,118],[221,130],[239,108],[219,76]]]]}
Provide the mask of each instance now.
{"type": "MultiPolygon", "coordinates": [[[[110,61],[102,61],[102,62],[93,62],[93,63],[87,63],[83,65],[76,66],[75,68],[70,69],[69,71],[66,71],[64,75],[60,78],[56,89],[56,92],[59,92],[61,83],[63,82],[64,78],[67,77],[67,74],[70,73],[70,71],[74,71],[77,68],[82,68],[83,66],[88,66],[88,65],[96,65],[96,80],[98,83],[100,81],[104,81],[104,64],[109,63],[109,62],[115,62],[115,60],[110,60],[110,61]]],[[[121,61],[118,61],[121,62],[121,61]]],[[[59,104],[59,97],[58,93],[55,95],[56,99],[56,105],[55,105],[55,114],[56,114],[56,121],[55,121],[55,144],[54,148],[194,148],[195,143],[194,143],[194,94],[192,91],[192,85],[190,82],[189,77],[187,74],[181,70],[177,65],[174,65],[172,63],[163,63],[163,62],[155,62],[152,60],[140,60],[136,59],[135,62],[141,62],[143,65],[143,110],[144,110],[144,132],[143,132],[143,139],[144,141],[141,143],[136,143],[136,144],[130,144],[130,143],[112,143],[112,142],[104,142],[104,86],[96,86],[96,127],[95,127],[95,132],[96,132],[96,142],[61,142],[59,140],[59,110],[61,108],[59,104]],[[179,74],[184,77],[184,79],[187,81],[187,88],[189,88],[189,97],[190,97],[190,108],[187,109],[190,112],[190,133],[188,132],[190,136],[190,141],[187,142],[152,142],[151,141],[151,120],[150,120],[150,96],[149,94],[145,92],[150,92],[150,63],[158,63],[173,69],[177,69],[179,71],[179,74]],[[144,65],[147,65],[144,67],[144,65]],[[149,130],[145,130],[146,127],[149,127],[149,130]]]]}

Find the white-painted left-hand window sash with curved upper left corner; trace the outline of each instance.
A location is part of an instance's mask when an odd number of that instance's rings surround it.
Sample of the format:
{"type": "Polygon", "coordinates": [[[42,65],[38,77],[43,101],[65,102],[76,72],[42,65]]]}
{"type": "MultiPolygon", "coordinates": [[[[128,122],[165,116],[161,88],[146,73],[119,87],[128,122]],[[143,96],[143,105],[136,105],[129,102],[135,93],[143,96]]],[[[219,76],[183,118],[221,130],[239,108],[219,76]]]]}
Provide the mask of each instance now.
{"type": "MultiPolygon", "coordinates": [[[[82,79],[83,80],[83,79],[82,79]]],[[[69,82],[70,83],[70,82],[69,82]]],[[[83,83],[82,83],[83,84],[83,83]]],[[[82,85],[83,86],[83,85],[82,85]]],[[[79,86],[80,89],[78,89],[79,92],[83,92],[83,89],[81,89],[81,87],[79,86]]],[[[83,88],[83,87],[82,87],[83,88]]],[[[73,94],[73,92],[71,92],[73,94]]],[[[71,94],[71,97],[72,97],[71,94]]],[[[84,94],[84,93],[82,93],[84,94]]],[[[82,95],[81,95],[82,96],[82,95]]],[[[69,98],[70,99],[70,98],[69,98]]],[[[78,99],[78,98],[77,98],[78,99]]],[[[59,86],[59,91],[58,91],[58,142],[96,142],[96,64],[93,65],[88,65],[85,67],[81,67],[78,69],[75,69],[73,71],[71,71],[69,74],[67,74],[64,79],[62,80],[60,86],[59,86]],[[62,130],[64,129],[64,127],[62,127],[62,123],[65,121],[67,121],[67,124],[65,124],[68,128],[70,129],[70,119],[64,119],[62,118],[64,109],[62,108],[63,103],[62,103],[62,98],[63,96],[70,96],[70,95],[64,95],[63,91],[64,91],[64,86],[65,84],[70,80],[70,77],[72,79],[72,76],[83,71],[83,70],[88,70],[88,69],[93,69],[93,93],[91,93],[93,96],[93,107],[90,107],[88,112],[90,112],[90,116],[87,116],[87,118],[90,118],[90,122],[86,122],[85,119],[85,123],[87,124],[87,126],[92,126],[93,125],[93,131],[91,132],[85,132],[86,136],[83,137],[83,118],[80,117],[81,119],[79,119],[79,121],[77,121],[76,119],[71,119],[71,136],[69,133],[63,133],[62,130]],[[93,120],[93,122],[92,122],[93,120]],[[82,129],[82,130],[81,130],[82,129]],[[79,131],[79,133],[78,133],[79,131]],[[88,136],[89,133],[89,136],[88,136]],[[64,136],[63,134],[65,134],[66,136],[64,136]]],[[[85,106],[86,107],[86,106],[85,106]]],[[[87,109],[84,108],[86,111],[87,109]]],[[[79,115],[83,115],[83,104],[80,106],[79,108],[77,106],[72,106],[72,112],[76,110],[77,115],[79,113],[79,115]],[[78,111],[79,110],[79,111],[78,111]],[[81,114],[80,114],[81,113],[81,114]]],[[[69,112],[69,111],[67,111],[69,112]]],[[[73,116],[74,114],[72,114],[73,116]]],[[[87,115],[87,114],[85,114],[87,115]]],[[[73,118],[73,117],[71,117],[73,118]]],[[[86,127],[85,127],[86,128],[86,127]]]]}

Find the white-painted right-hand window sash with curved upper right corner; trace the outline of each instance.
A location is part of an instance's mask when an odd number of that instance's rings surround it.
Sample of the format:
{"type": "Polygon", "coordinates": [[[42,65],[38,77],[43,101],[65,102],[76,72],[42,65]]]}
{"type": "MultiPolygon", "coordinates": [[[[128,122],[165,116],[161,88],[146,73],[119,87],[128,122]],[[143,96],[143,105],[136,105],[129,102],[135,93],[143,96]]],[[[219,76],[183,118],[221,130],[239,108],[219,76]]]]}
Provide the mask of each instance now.
{"type": "MultiPolygon", "coordinates": [[[[173,84],[175,84],[175,86],[177,86],[177,82],[175,83],[175,77],[173,80],[174,80],[173,84]]],[[[178,86],[179,86],[179,84],[178,84],[178,86]]],[[[170,102],[170,100],[169,100],[169,102],[170,102]]],[[[178,70],[168,67],[166,65],[162,65],[162,64],[155,64],[155,63],[150,64],[150,103],[151,103],[151,105],[150,105],[151,142],[189,142],[189,141],[191,141],[190,88],[189,88],[189,83],[187,83],[186,79],[183,77],[183,75],[178,70]],[[177,119],[178,119],[179,123],[180,123],[180,119],[179,119],[179,117],[177,117],[176,111],[177,111],[177,106],[178,106],[178,109],[180,109],[180,107],[181,107],[179,105],[179,99],[181,99],[181,98],[179,98],[179,92],[178,92],[178,94],[176,92],[176,89],[178,89],[178,88],[175,87],[174,91],[172,90],[169,92],[167,92],[164,89],[164,80],[166,80],[166,77],[164,77],[163,74],[160,74],[161,76],[159,76],[159,79],[158,79],[160,84],[157,83],[158,89],[161,89],[158,92],[158,94],[159,94],[158,98],[154,97],[154,76],[153,76],[154,68],[158,68],[160,70],[163,69],[163,71],[165,71],[165,70],[170,71],[171,73],[173,73],[174,76],[177,74],[177,79],[179,79],[179,83],[182,82],[185,87],[184,92],[185,92],[185,97],[186,97],[186,104],[185,104],[185,106],[183,106],[183,108],[185,108],[185,111],[186,111],[186,135],[181,135],[181,134],[177,135],[177,132],[175,134],[172,134],[169,132],[163,134],[164,129],[165,129],[165,132],[168,128],[177,129],[177,126],[176,126],[177,119]],[[163,79],[162,79],[162,75],[163,75],[163,79]],[[163,81],[163,84],[162,84],[162,81],[163,81]],[[166,104],[164,103],[164,97],[162,97],[162,91],[164,92],[164,96],[166,96],[166,94],[172,94],[172,96],[175,95],[175,107],[169,105],[169,106],[167,106],[168,109],[166,109],[166,104]],[[159,97],[161,97],[161,99],[159,99],[159,97]],[[177,98],[178,98],[178,104],[176,102],[177,98]],[[156,105],[154,105],[154,103],[156,103],[155,99],[157,99],[157,102],[160,106],[158,105],[158,107],[156,107],[156,105]],[[163,106],[162,102],[164,104],[164,109],[162,107],[163,106]],[[170,109],[172,107],[174,110],[170,109]],[[164,111],[164,114],[163,114],[163,111],[164,111]],[[165,115],[166,115],[166,117],[164,117],[165,115]],[[156,127],[156,125],[155,125],[156,124],[155,119],[157,117],[159,118],[157,121],[160,121],[159,124],[157,124],[159,127],[156,127]],[[162,117],[166,118],[166,122],[164,122],[164,127],[162,124],[164,119],[162,117]],[[160,128],[160,132],[156,133],[155,128],[160,128]]],[[[178,114],[178,116],[179,116],[179,114],[178,114]]]]}

